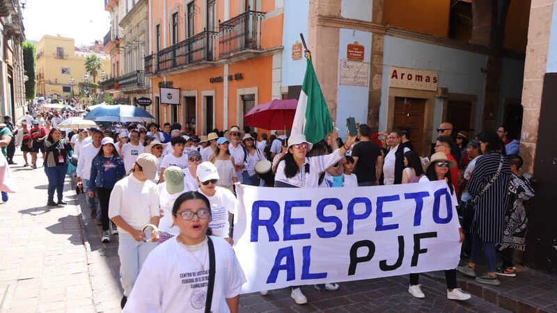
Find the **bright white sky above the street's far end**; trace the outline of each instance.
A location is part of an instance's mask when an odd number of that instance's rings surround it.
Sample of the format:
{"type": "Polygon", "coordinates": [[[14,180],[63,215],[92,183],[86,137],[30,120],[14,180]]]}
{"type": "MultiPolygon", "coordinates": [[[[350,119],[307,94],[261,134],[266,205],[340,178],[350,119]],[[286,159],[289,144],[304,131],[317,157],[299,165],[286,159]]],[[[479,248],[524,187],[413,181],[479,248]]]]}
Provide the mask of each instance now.
{"type": "Polygon", "coordinates": [[[79,47],[102,42],[110,29],[104,0],[27,0],[22,12],[27,40],[59,34],[74,38],[79,47]]]}

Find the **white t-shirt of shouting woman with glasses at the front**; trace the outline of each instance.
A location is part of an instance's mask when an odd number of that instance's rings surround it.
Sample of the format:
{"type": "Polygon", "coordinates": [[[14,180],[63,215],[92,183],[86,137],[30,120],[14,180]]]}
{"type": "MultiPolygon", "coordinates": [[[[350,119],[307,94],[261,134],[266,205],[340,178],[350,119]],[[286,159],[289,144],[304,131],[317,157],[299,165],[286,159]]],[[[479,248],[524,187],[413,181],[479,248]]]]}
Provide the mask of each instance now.
{"type": "MultiPolygon", "coordinates": [[[[246,276],[230,244],[216,236],[211,239],[217,260],[211,310],[228,313],[226,298],[240,294],[246,276]]],[[[174,236],[150,252],[122,312],[203,313],[208,278],[207,241],[185,246],[174,236]]]]}

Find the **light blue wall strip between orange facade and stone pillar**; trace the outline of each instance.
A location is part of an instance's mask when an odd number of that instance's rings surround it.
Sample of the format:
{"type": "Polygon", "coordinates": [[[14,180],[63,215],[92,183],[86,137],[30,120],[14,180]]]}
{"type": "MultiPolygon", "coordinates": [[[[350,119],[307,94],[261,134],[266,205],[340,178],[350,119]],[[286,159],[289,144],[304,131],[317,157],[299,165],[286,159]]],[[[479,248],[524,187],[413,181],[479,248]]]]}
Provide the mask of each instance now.
{"type": "Polygon", "coordinates": [[[282,86],[301,85],[304,81],[306,59],[302,56],[292,60],[292,45],[296,40],[301,42],[300,33],[308,41],[308,16],[309,1],[284,1],[282,86]]]}

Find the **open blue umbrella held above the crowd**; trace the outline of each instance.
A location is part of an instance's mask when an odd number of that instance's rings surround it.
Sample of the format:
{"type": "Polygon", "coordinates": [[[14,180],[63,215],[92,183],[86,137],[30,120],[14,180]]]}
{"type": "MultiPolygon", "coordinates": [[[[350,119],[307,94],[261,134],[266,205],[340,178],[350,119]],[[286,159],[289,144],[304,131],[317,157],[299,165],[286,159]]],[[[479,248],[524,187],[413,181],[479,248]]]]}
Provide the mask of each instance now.
{"type": "Polygon", "coordinates": [[[85,120],[95,122],[152,122],[155,118],[138,106],[116,104],[99,106],[85,115],[85,120]]]}

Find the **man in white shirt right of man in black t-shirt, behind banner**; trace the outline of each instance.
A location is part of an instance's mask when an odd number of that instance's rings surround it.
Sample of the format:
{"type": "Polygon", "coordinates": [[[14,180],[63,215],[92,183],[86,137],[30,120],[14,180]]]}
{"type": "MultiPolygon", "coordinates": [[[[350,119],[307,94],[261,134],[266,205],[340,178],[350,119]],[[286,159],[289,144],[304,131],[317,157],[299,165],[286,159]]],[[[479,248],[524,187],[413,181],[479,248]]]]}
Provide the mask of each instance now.
{"type": "Polygon", "coordinates": [[[410,149],[400,145],[402,134],[400,131],[391,131],[386,143],[391,147],[383,163],[384,184],[402,184],[402,170],[405,168],[405,153],[410,149]]]}

